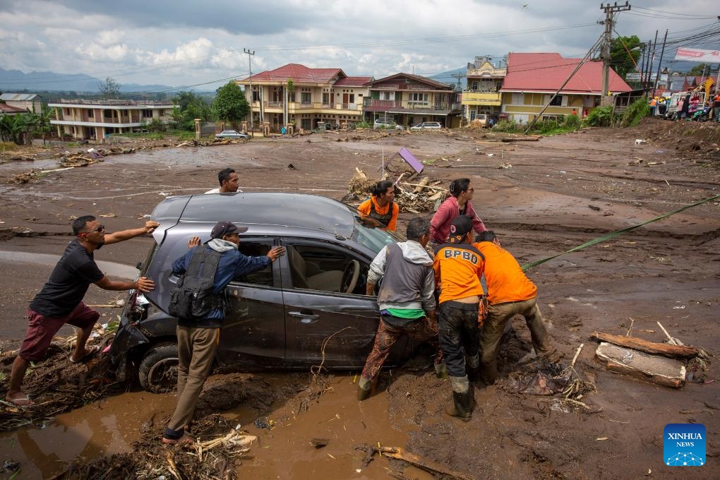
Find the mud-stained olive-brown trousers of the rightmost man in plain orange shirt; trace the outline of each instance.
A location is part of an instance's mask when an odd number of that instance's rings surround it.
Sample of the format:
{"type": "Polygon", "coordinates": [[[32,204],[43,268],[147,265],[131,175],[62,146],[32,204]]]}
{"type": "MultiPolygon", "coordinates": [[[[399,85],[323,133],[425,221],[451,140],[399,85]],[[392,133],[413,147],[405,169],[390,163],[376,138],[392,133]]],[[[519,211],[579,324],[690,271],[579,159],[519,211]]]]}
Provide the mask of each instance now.
{"type": "Polygon", "coordinates": [[[525,317],[535,353],[538,356],[546,356],[554,352],[555,349],[542,322],[542,314],[536,300],[537,298],[534,297],[522,302],[491,304],[488,307],[487,318],[482,325],[482,332],[480,332],[482,378],[488,383],[492,384],[498,378],[497,358],[498,350],[500,350],[500,338],[503,336],[505,325],[516,314],[525,317]]]}

